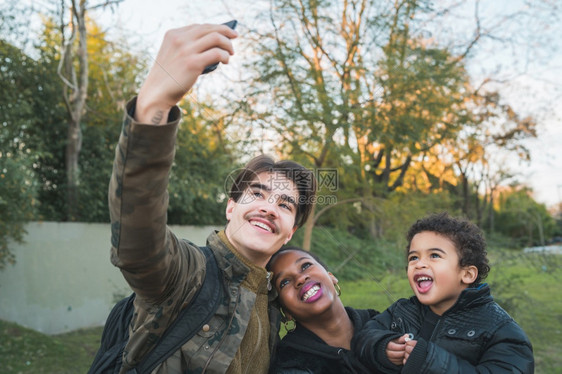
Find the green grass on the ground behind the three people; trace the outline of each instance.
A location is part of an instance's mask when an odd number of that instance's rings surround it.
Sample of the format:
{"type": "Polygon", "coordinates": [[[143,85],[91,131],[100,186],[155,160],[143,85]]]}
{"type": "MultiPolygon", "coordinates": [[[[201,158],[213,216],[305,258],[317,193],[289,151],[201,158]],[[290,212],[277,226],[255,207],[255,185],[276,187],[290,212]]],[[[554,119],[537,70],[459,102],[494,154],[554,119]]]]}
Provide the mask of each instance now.
{"type": "MultiPolygon", "coordinates": [[[[487,282],[495,299],[521,325],[535,353],[535,373],[562,374],[562,256],[490,254],[487,282]]],[[[337,274],[336,274],[337,275],[337,274]]],[[[340,281],[344,304],[384,310],[412,294],[405,272],[377,280],[340,281]]],[[[48,336],[0,321],[0,372],[85,373],[99,346],[102,328],[48,336]]]]}

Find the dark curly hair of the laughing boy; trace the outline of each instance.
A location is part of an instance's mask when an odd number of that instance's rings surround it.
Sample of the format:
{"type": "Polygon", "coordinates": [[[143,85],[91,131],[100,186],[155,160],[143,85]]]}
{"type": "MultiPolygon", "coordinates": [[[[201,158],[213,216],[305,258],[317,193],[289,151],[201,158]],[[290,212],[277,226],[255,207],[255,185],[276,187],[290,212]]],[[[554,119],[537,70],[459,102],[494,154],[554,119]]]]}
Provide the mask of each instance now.
{"type": "Polygon", "coordinates": [[[473,265],[478,269],[478,276],[473,284],[480,283],[488,276],[490,265],[488,264],[486,241],[478,226],[468,220],[451,217],[447,212],[424,217],[414,223],[406,234],[408,241],[406,255],[410,250],[413,237],[422,231],[437,233],[453,242],[459,254],[459,265],[461,267],[473,265]]]}

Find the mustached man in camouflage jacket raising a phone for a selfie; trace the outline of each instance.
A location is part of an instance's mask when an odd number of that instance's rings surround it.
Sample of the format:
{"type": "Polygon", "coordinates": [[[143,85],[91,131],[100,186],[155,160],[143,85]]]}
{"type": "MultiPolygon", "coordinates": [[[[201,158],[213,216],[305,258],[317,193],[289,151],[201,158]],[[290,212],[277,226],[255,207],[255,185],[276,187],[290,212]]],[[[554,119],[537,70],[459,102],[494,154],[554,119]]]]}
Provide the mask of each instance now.
{"type": "MultiPolygon", "coordinates": [[[[109,186],[111,261],[136,293],[122,373],[154,347],[203,282],[205,255],[166,226],[176,103],[206,66],[228,63],[236,36],[224,25],[168,31],[138,97],[127,105],[109,186]]],[[[279,315],[268,308],[265,265],[306,221],[315,188],[312,173],[297,163],[267,156],[250,161],[230,191],[225,230],[207,239],[224,298],[202,330],[153,373],[267,372],[279,315]]]]}

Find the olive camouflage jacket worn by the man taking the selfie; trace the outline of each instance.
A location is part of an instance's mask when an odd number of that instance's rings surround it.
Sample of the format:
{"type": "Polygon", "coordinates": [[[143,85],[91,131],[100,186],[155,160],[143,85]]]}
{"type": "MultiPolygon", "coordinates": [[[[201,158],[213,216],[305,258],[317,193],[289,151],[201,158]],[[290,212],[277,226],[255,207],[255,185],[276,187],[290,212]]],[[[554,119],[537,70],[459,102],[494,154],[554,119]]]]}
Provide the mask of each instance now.
{"type": "MultiPolygon", "coordinates": [[[[179,109],[166,125],[143,125],[131,117],[135,103],[127,104],[109,185],[111,262],[137,294],[121,372],[134,367],[189,304],[206,266],[199,249],[166,224],[179,109]]],[[[237,253],[223,232],[212,233],[207,246],[221,270],[224,299],[211,321],[153,373],[265,373],[280,320],[268,303],[276,295],[268,292],[267,272],[237,253]]]]}

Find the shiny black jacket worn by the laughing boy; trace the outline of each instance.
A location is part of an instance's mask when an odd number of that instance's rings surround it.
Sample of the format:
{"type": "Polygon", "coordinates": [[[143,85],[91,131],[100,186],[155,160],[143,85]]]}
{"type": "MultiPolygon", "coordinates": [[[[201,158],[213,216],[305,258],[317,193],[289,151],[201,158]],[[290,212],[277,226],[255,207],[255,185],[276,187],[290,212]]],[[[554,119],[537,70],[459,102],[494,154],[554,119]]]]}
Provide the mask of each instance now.
{"type": "Polygon", "coordinates": [[[414,296],[400,299],[374,317],[352,340],[351,348],[371,370],[382,373],[533,373],[531,343],[519,325],[483,284],[465,289],[439,318],[430,339],[417,338],[429,308],[414,296]],[[386,346],[404,333],[417,344],[406,365],[386,357],[386,346]]]}

